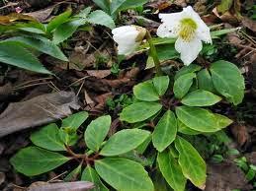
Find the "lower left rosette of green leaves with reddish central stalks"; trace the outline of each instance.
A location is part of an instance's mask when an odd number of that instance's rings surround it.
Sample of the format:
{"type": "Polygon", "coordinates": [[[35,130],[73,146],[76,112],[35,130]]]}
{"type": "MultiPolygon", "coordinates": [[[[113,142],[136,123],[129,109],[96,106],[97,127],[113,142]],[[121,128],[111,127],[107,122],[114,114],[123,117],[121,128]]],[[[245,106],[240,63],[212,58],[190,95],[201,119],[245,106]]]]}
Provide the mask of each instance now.
{"type": "Polygon", "coordinates": [[[110,186],[124,191],[153,191],[152,180],[143,167],[147,161],[133,152],[150,140],[150,132],[124,129],[107,138],[111,116],[106,115],[91,121],[84,134],[77,135],[77,129],[87,117],[87,112],[78,112],[62,120],[60,128],[53,123],[36,131],[31,135],[35,146],[19,151],[10,159],[12,165],[27,176],[35,176],[75,159],[78,164],[66,175],[65,181],[80,177],[93,182],[94,191],[108,191],[110,186]],[[80,138],[86,148],[81,154],[75,154],[80,138]]]}

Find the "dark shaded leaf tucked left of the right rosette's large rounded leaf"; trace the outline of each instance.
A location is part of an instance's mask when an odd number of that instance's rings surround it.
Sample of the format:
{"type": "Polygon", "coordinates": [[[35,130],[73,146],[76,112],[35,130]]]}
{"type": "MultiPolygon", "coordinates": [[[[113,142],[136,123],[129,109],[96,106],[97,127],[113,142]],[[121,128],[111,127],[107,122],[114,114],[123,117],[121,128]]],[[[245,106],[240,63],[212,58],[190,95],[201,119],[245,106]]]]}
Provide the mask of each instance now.
{"type": "Polygon", "coordinates": [[[198,75],[199,89],[214,92],[213,80],[207,69],[201,70],[198,75]]]}

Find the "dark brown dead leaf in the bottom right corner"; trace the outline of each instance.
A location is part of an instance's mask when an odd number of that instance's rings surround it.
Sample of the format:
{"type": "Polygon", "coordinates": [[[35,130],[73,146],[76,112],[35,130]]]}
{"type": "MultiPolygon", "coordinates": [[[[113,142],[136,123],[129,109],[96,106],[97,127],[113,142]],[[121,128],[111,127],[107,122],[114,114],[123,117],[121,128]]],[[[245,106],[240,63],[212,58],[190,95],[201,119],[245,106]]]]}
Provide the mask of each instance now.
{"type": "Polygon", "coordinates": [[[233,162],[208,164],[208,177],[205,191],[250,190],[243,171],[233,162]]]}

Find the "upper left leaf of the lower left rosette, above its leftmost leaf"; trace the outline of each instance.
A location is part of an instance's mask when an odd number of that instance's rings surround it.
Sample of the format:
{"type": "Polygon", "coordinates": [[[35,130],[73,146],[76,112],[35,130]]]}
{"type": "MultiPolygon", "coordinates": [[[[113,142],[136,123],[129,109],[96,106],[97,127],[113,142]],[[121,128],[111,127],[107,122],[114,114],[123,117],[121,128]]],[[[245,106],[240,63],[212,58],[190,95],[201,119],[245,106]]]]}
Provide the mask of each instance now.
{"type": "Polygon", "coordinates": [[[56,124],[51,123],[44,126],[30,137],[32,143],[49,151],[66,151],[64,143],[59,137],[59,129],[56,124]]]}

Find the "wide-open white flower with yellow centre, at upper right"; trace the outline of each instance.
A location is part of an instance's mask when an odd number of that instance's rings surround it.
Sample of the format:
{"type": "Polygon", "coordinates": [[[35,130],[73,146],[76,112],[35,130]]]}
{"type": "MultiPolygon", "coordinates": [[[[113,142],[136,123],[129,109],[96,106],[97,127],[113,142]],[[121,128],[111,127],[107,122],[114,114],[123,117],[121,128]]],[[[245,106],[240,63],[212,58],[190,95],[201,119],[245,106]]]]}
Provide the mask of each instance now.
{"type": "Polygon", "coordinates": [[[175,49],[181,54],[185,65],[191,64],[202,50],[202,40],[212,43],[209,27],[191,6],[182,12],[159,14],[162,24],[157,30],[160,37],[178,37],[175,49]]]}

